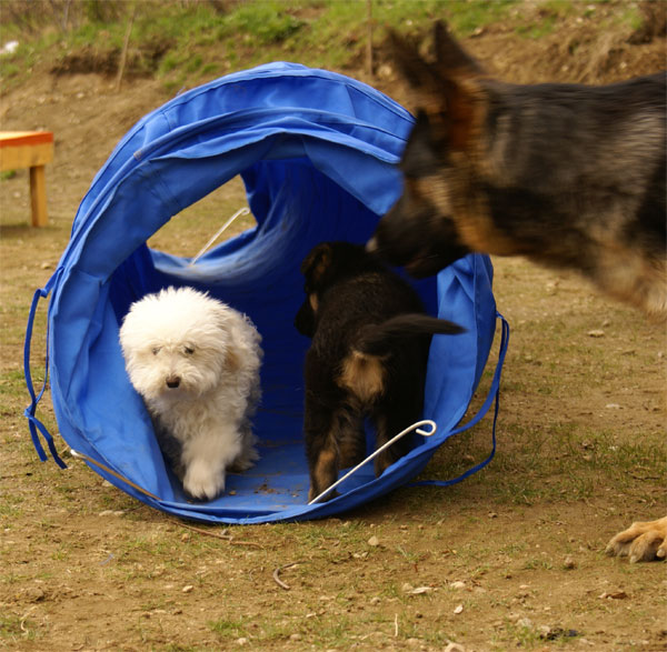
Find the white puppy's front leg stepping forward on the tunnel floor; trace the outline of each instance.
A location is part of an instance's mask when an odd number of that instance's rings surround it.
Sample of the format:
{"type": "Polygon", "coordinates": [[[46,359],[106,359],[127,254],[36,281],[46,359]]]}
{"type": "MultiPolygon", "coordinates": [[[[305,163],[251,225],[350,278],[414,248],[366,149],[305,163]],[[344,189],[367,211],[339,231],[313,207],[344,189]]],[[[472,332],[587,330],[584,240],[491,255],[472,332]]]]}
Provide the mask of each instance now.
{"type": "Polygon", "coordinates": [[[242,452],[241,437],[232,428],[205,431],[183,443],[183,489],[197,500],[213,500],[225,491],[227,469],[242,452]]]}

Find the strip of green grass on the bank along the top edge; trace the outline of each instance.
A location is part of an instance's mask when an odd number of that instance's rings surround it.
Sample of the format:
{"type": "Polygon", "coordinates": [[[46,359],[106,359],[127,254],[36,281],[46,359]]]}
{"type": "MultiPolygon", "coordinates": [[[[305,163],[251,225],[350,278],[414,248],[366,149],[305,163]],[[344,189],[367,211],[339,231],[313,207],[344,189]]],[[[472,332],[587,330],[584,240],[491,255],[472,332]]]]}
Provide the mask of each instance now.
{"type": "MultiPolygon", "coordinates": [[[[375,0],[374,41],[380,44],[387,24],[428,33],[436,18],[447,19],[454,31],[465,37],[507,18],[516,3],[375,0]]],[[[2,58],[0,79],[17,83],[34,67],[64,64],[77,52],[87,52],[91,67],[111,58],[118,61],[131,4],[108,0],[104,6],[109,9],[103,12],[80,12],[67,29],[58,20],[60,16],[30,13],[27,6],[30,21],[8,27],[8,38],[19,39],[20,46],[16,53],[2,58]]],[[[241,59],[245,67],[252,67],[272,60],[298,60],[301,52],[308,51],[311,66],[346,68],[364,57],[366,47],[365,7],[354,0],[251,1],[230,3],[226,11],[206,2],[138,2],[136,8],[129,72],[157,73],[168,92],[233,70],[241,59]],[[213,46],[217,54],[211,59],[213,46]]]]}

